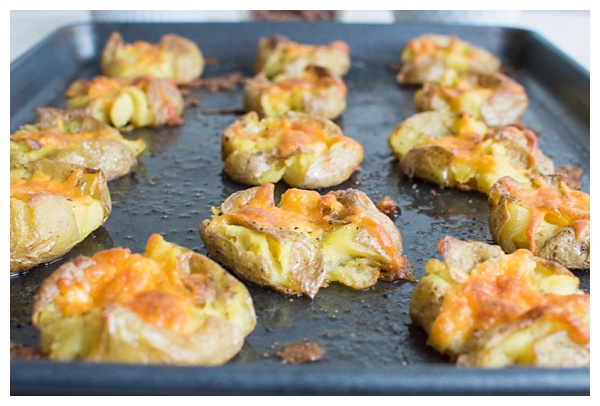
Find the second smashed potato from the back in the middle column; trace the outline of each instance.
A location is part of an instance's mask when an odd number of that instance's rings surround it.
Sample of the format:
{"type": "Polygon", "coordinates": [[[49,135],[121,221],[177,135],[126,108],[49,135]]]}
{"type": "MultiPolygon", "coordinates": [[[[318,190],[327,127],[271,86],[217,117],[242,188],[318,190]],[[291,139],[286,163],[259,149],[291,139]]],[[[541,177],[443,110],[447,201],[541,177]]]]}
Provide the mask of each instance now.
{"type": "Polygon", "coordinates": [[[286,111],[335,119],[346,108],[346,84],[324,68],[309,66],[301,74],[268,79],[258,74],[246,81],[244,108],[261,117],[280,117],[286,111]]]}

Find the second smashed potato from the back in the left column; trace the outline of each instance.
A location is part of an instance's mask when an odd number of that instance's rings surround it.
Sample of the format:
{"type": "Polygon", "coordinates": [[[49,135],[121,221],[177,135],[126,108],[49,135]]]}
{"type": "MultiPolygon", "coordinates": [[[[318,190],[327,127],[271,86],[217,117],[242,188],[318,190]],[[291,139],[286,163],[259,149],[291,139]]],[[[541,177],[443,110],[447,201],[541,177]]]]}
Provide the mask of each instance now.
{"type": "Polygon", "coordinates": [[[180,125],[183,96],[170,79],[96,76],[71,84],[67,108],[78,109],[113,127],[180,125]]]}

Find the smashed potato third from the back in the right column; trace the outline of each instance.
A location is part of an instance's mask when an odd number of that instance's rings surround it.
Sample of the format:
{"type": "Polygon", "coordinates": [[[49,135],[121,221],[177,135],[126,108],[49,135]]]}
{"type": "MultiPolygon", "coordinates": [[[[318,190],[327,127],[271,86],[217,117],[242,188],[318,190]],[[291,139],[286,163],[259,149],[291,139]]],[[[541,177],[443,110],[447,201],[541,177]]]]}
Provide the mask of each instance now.
{"type": "Polygon", "coordinates": [[[408,177],[460,190],[487,193],[503,176],[524,182],[554,172],[532,131],[489,131],[467,113],[418,113],[400,123],[388,143],[408,177]]]}

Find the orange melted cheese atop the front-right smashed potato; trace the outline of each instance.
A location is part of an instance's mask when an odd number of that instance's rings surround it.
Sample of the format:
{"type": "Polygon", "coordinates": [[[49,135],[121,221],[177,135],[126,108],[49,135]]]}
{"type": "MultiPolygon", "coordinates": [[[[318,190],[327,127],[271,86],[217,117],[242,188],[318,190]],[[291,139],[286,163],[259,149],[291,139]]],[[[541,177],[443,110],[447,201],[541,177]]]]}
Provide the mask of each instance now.
{"type": "Polygon", "coordinates": [[[456,337],[468,340],[474,332],[542,316],[564,325],[575,342],[589,343],[589,325],[578,317],[586,312],[589,295],[544,294],[535,286],[535,267],[527,250],[517,250],[495,263],[478,264],[466,282],[447,292],[429,343],[444,347],[456,337]]]}

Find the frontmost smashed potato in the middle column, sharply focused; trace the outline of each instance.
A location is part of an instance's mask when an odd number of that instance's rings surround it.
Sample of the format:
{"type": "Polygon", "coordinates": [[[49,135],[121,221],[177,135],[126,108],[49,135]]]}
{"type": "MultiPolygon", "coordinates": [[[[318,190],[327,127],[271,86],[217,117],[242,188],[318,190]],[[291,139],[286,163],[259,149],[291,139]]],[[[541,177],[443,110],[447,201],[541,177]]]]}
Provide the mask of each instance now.
{"type": "Polygon", "coordinates": [[[234,193],[200,225],[209,255],[240,278],[313,298],[332,282],[366,289],[412,276],[400,232],[363,192],[288,189],[277,206],[273,193],[234,193]]]}

